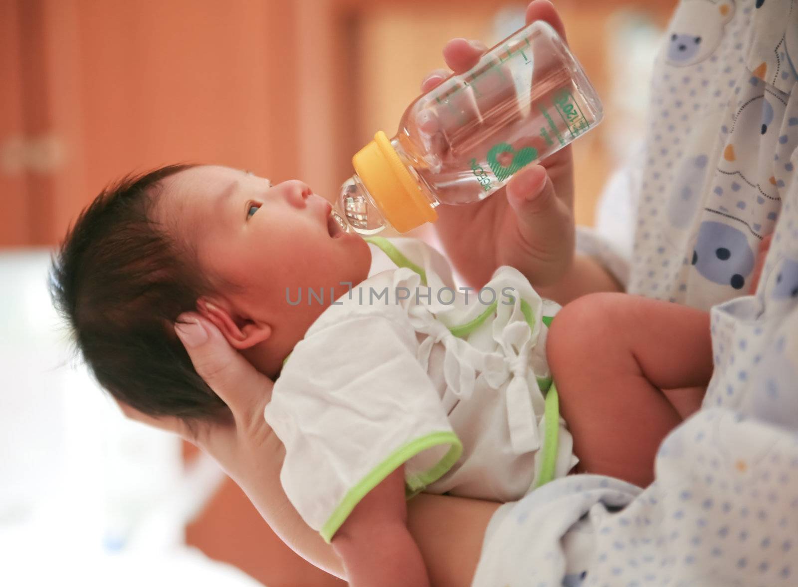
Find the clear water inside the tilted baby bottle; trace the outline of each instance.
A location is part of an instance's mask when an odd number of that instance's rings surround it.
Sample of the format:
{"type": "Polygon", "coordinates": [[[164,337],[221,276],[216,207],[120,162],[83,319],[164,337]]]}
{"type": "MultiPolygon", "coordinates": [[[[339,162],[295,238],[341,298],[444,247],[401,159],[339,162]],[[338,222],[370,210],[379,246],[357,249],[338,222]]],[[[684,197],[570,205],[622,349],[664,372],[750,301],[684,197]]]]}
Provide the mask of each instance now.
{"type": "Polygon", "coordinates": [[[422,97],[428,99],[406,113],[398,142],[437,202],[483,200],[519,169],[551,155],[599,121],[600,105],[580,90],[590,85],[579,72],[561,61],[528,61],[528,67],[516,62],[512,71],[499,65],[504,71],[496,73],[494,58],[465,79],[452,78],[448,88],[422,97]],[[512,83],[496,78],[500,74],[512,76],[512,83]],[[493,86],[490,76],[495,77],[493,86]],[[475,79],[484,81],[478,85],[475,79]]]}

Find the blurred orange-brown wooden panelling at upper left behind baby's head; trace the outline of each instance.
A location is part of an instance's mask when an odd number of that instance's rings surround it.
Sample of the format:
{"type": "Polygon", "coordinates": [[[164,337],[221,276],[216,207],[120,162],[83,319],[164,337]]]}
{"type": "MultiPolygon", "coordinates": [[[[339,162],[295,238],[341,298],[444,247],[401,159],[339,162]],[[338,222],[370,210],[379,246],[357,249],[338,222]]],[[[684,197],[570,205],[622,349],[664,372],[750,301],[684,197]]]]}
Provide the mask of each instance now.
{"type": "Polygon", "coordinates": [[[169,163],[330,189],[349,151],[331,110],[348,84],[338,29],[295,34],[325,6],[0,0],[0,246],[55,244],[105,184],[169,163]]]}

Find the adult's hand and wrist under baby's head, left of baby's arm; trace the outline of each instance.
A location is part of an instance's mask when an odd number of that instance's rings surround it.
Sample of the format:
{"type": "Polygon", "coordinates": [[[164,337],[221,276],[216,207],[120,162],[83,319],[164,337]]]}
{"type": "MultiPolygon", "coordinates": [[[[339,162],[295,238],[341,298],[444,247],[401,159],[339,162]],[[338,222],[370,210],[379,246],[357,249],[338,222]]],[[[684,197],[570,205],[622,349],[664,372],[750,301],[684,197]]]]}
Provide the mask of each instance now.
{"type": "Polygon", "coordinates": [[[153,418],[121,404],[129,418],[180,434],[219,462],[247,494],[271,529],[291,549],[338,577],[342,565],[330,545],[306,526],[280,485],[285,449],[263,418],[274,383],[232,348],[219,330],[196,314],[183,314],[175,327],[194,367],[230,408],[225,422],[188,426],[178,418],[153,418]]]}

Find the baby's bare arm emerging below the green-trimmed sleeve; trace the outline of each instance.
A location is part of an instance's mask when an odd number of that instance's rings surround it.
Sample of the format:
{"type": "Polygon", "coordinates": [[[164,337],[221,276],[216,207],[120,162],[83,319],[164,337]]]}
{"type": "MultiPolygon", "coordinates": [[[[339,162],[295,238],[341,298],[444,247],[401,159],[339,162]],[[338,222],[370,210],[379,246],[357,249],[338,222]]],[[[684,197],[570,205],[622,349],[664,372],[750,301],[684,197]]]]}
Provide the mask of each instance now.
{"type": "Polygon", "coordinates": [[[424,560],[407,528],[405,467],[355,506],[332,540],[354,587],[427,587],[424,560]]]}

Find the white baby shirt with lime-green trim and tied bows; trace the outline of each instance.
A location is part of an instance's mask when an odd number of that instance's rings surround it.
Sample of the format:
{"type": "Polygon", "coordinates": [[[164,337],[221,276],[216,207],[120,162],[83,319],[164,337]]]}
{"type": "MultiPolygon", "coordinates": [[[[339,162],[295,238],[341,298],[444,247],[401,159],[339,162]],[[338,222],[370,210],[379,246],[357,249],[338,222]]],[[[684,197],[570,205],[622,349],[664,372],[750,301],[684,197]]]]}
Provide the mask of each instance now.
{"type": "Polygon", "coordinates": [[[497,269],[480,292],[458,291],[447,261],[421,241],[371,242],[375,257],[382,250],[404,266],[322,313],[264,413],[286,447],[280,481],[302,518],[330,541],[403,463],[409,495],[501,502],[567,474],[571,435],[556,394],[544,397],[543,316],[559,307],[513,268],[497,269]]]}

